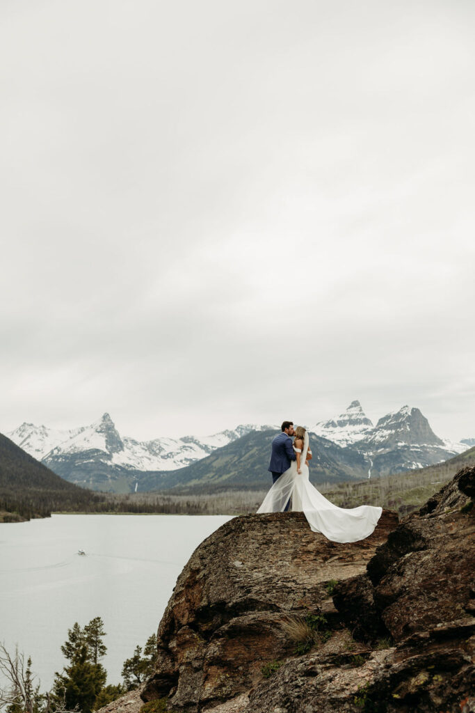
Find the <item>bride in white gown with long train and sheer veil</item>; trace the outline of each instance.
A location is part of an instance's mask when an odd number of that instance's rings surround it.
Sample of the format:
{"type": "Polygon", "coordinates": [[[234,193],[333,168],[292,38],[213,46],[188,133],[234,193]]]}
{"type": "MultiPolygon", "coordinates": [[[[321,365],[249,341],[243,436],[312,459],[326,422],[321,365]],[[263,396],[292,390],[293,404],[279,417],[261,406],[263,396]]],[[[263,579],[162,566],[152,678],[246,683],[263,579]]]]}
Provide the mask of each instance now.
{"type": "Polygon", "coordinates": [[[382,508],[362,505],[359,508],[338,508],[323,497],[308,479],[308,433],[303,426],[297,426],[293,443],[297,459],[291,467],[276,480],[258,513],[280,513],[292,498],[291,509],[303,511],[310,529],[323,533],[333,542],[357,542],[364,540],[377,525],[382,508]]]}

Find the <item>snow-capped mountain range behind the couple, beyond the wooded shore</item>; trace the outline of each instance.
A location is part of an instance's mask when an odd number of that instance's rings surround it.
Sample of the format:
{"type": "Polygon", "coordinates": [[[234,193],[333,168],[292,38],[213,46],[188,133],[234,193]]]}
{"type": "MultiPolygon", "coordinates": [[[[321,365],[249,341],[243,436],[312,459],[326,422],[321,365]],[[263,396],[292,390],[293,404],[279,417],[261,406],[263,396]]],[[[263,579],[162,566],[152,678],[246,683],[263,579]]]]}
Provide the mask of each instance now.
{"type": "MultiPolygon", "coordinates": [[[[471,439],[450,443],[434,434],[421,411],[403,406],[377,421],[359,401],[340,416],[308,429],[312,480],[348,481],[446,461],[471,439]]],[[[137,441],[121,436],[109,414],[69,431],[21,424],[7,434],[68,481],[94,490],[130,492],[165,488],[239,488],[268,485],[268,455],[277,426],[244,424],[212,436],[137,441]]]]}

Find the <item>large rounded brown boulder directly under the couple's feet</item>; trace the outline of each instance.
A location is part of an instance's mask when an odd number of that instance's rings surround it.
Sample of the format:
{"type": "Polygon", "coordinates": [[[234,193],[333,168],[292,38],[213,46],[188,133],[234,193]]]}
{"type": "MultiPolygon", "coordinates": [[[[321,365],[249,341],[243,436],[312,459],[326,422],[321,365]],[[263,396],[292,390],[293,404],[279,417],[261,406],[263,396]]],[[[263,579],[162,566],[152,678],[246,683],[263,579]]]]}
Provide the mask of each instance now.
{"type": "Polygon", "coordinates": [[[326,605],[331,620],[331,586],[364,571],[396,525],[396,513],[385,511],[369,538],[340,544],[313,533],[303,513],[229,520],[177,580],[142,698],[201,710],[249,691],[263,665],[293,655],[296,642],[283,630],[289,615],[321,615],[326,605]]]}

